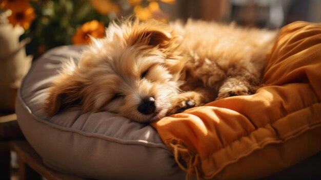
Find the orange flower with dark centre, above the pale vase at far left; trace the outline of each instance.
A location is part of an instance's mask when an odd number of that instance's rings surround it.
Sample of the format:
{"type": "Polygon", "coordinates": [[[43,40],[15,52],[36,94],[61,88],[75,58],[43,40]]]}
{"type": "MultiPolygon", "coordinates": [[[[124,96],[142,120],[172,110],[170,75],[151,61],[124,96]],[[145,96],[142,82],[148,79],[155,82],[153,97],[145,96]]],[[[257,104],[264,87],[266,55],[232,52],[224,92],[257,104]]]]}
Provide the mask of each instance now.
{"type": "MultiPolygon", "coordinates": [[[[9,7],[9,6],[6,6],[6,7],[9,7]]],[[[9,22],[13,26],[19,24],[24,29],[28,29],[33,19],[36,17],[36,14],[34,13],[34,9],[29,4],[26,4],[24,6],[22,5],[15,6],[14,8],[11,8],[11,11],[12,11],[12,14],[8,17],[9,22]]]]}

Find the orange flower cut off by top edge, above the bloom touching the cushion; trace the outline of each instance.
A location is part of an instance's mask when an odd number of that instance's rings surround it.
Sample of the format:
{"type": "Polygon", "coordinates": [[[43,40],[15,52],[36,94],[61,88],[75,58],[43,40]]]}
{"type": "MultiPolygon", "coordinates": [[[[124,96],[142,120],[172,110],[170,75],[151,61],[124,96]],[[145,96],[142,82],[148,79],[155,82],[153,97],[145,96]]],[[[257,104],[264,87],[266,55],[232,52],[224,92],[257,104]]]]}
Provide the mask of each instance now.
{"type": "Polygon", "coordinates": [[[90,0],[90,3],[100,14],[119,13],[120,11],[119,6],[111,0],[90,0]]]}

